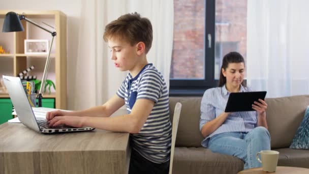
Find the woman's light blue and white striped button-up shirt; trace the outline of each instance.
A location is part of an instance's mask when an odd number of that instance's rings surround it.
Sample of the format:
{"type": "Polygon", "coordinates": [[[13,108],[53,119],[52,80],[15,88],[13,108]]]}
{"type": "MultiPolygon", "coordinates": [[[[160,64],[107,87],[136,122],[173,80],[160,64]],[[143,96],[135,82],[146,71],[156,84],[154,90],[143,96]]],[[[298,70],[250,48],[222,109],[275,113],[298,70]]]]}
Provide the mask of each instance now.
{"type": "MultiPolygon", "coordinates": [[[[250,92],[248,87],[240,86],[240,92],[250,92]]],[[[201,101],[201,118],[200,130],[207,123],[217,118],[224,112],[230,92],[227,91],[226,86],[212,88],[205,91],[201,101]]],[[[257,126],[257,112],[243,111],[232,112],[223,124],[203,141],[202,146],[207,148],[209,138],[213,135],[226,132],[249,132],[257,126]]]]}

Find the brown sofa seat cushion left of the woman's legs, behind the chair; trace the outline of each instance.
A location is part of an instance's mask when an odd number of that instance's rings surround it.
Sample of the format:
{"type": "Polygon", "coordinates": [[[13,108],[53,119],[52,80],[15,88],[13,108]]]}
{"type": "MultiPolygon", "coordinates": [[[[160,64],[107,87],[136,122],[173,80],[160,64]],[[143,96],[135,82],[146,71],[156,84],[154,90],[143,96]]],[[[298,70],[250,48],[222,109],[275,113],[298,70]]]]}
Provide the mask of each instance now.
{"type": "Polygon", "coordinates": [[[237,173],[243,162],[230,155],[212,153],[209,149],[175,148],[173,173],[237,173]]]}

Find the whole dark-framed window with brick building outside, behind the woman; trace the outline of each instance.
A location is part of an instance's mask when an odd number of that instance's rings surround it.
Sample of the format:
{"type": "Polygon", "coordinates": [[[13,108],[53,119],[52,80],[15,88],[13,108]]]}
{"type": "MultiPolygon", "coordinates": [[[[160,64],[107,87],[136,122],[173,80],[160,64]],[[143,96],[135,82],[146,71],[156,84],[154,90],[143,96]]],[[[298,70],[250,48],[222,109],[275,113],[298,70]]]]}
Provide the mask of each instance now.
{"type": "Polygon", "coordinates": [[[170,95],[202,95],[217,86],[223,56],[246,60],[247,0],[174,0],[170,95]]]}

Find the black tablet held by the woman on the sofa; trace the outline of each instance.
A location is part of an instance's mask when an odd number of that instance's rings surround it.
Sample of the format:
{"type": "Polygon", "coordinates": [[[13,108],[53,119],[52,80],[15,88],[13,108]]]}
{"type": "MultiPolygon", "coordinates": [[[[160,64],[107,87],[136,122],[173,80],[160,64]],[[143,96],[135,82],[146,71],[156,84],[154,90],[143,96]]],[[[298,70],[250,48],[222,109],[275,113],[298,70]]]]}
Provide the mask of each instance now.
{"type": "Polygon", "coordinates": [[[252,104],[265,96],[266,91],[230,93],[225,112],[253,111],[252,104]]]}

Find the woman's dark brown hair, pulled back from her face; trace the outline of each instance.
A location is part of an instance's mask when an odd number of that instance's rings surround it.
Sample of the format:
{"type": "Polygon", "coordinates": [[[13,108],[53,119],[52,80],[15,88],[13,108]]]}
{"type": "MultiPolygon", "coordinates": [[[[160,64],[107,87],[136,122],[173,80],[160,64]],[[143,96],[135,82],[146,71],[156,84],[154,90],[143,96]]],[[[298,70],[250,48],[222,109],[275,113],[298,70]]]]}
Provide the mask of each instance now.
{"type": "MultiPolygon", "coordinates": [[[[220,69],[220,79],[219,79],[219,87],[225,85],[226,83],[226,77],[222,73],[222,69],[226,70],[226,68],[229,66],[230,63],[243,63],[244,65],[244,59],[241,54],[238,52],[229,52],[227,53],[222,60],[222,66],[220,69]]],[[[244,81],[241,83],[243,86],[246,86],[244,84],[244,81]]]]}

